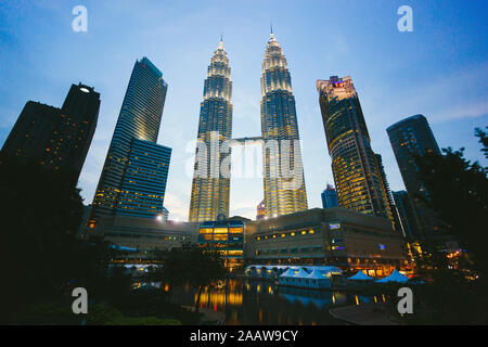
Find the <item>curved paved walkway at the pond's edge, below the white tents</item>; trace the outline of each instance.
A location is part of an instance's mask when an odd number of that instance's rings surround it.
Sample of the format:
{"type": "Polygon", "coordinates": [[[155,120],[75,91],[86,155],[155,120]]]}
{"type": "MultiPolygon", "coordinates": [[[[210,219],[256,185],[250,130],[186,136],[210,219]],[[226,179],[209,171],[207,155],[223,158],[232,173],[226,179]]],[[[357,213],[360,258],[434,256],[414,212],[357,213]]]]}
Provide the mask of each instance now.
{"type": "Polygon", "coordinates": [[[390,314],[383,304],[362,304],[337,307],[329,310],[332,317],[356,325],[400,325],[388,318],[390,314]]]}

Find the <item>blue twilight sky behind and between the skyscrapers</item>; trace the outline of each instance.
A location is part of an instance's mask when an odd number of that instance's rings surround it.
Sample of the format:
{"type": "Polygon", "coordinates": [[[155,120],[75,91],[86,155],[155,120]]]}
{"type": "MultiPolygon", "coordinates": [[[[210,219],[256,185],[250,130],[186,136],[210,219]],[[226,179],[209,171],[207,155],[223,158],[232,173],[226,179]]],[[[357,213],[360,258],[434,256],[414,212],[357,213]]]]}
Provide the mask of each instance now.
{"type": "MultiPolygon", "coordinates": [[[[351,76],[373,150],[393,190],[403,183],[386,134],[399,119],[424,114],[439,146],[465,146],[486,165],[474,137],[488,125],[488,1],[226,0],[0,2],[0,144],[28,100],[61,106],[70,83],[101,93],[97,132],[79,187],[91,203],[133,63],[147,56],[169,83],[158,143],[172,147],[165,206],[187,220],[203,81],[223,33],[233,80],[233,136],[260,134],[260,75],[269,25],[292,74],[309,207],[333,183],[317,79],[351,76]],[[88,10],[75,33],[72,10],[88,10]],[[400,5],[413,33],[397,29],[400,5]]],[[[235,150],[239,157],[239,150],[235,150]]],[[[260,157],[257,158],[258,162],[260,157]]],[[[260,178],[235,178],[231,215],[254,218],[260,178]]]]}

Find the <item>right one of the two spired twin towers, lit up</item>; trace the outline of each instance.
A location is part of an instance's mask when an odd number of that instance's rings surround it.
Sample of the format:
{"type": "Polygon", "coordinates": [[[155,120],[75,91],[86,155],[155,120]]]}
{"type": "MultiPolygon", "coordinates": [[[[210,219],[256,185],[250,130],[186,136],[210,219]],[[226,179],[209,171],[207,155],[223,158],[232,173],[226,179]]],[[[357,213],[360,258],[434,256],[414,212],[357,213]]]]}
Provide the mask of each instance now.
{"type": "Polygon", "coordinates": [[[307,209],[292,79],[272,31],[262,62],[261,132],[266,216],[307,209]]]}

